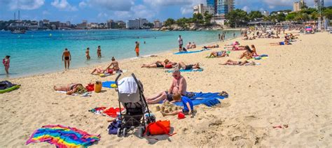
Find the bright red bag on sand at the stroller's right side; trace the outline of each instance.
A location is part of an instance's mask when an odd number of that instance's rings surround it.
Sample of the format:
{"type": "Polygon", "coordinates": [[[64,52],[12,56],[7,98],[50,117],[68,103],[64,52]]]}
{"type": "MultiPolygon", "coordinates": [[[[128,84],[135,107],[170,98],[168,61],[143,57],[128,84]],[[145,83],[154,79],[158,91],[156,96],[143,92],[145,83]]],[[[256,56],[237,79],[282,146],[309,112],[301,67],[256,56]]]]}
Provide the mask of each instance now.
{"type": "Polygon", "coordinates": [[[146,127],[146,131],[145,133],[150,133],[151,135],[174,135],[176,133],[170,134],[170,127],[171,126],[171,122],[170,120],[164,120],[164,121],[156,121],[153,123],[148,124],[148,126],[146,127]]]}

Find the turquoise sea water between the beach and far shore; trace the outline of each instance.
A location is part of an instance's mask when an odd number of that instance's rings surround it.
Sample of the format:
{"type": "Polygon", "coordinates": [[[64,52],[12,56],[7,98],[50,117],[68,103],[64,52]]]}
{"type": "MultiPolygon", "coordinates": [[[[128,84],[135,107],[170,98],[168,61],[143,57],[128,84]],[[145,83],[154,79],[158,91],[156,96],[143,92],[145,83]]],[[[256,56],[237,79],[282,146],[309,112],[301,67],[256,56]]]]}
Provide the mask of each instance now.
{"type": "MultiPolygon", "coordinates": [[[[240,31],[226,31],[226,39],[240,36],[240,31]]],[[[216,42],[221,31],[148,31],[148,30],[78,30],[78,31],[27,31],[11,34],[0,31],[0,58],[11,56],[10,77],[62,71],[62,52],[71,52],[70,68],[136,57],[135,41],[140,42],[140,55],[156,54],[178,48],[177,38],[184,38],[184,45],[216,42]],[[146,44],[144,44],[144,41],[146,44]],[[102,58],[97,58],[97,46],[102,47],[102,58]],[[85,50],[90,47],[90,60],[85,50]]],[[[0,66],[0,78],[6,77],[0,66]]]]}

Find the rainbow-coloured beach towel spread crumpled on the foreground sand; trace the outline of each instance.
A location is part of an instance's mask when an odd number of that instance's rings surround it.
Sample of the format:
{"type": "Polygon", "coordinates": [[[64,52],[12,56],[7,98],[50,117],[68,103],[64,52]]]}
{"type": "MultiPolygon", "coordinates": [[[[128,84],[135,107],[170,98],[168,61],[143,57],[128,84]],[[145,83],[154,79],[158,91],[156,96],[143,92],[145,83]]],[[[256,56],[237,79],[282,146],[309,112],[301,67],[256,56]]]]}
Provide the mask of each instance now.
{"type": "Polygon", "coordinates": [[[85,131],[62,125],[48,125],[34,131],[25,145],[48,142],[56,147],[88,147],[99,141],[100,135],[90,135],[85,131]]]}

